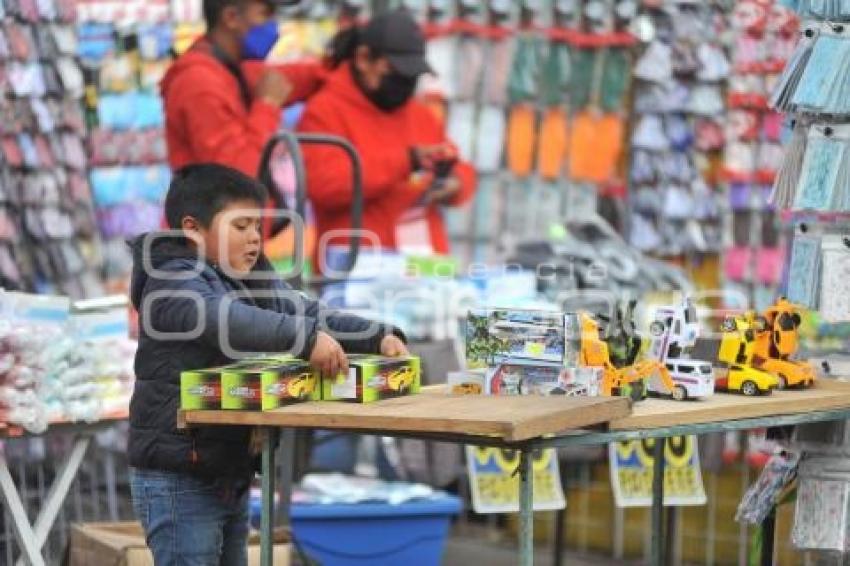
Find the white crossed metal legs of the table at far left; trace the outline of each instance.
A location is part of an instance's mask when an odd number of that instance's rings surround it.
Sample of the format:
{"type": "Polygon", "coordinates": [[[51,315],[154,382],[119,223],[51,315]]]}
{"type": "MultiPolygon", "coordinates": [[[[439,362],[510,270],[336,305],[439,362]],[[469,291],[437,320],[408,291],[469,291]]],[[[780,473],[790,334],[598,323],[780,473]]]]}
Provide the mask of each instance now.
{"type": "Polygon", "coordinates": [[[23,556],[16,562],[18,566],[23,566],[25,562],[32,566],[44,564],[41,549],[47,542],[47,537],[50,535],[50,530],[62,509],[62,504],[68,497],[68,492],[74,478],[77,477],[77,472],[80,470],[80,465],[83,463],[90,443],[91,436],[89,435],[81,435],[74,439],[71,453],[53,480],[53,485],[42,504],[34,526],[30,525],[26,510],[12,480],[12,475],[9,473],[6,460],[0,456],[0,491],[2,491],[3,499],[12,515],[15,533],[23,549],[23,556]]]}

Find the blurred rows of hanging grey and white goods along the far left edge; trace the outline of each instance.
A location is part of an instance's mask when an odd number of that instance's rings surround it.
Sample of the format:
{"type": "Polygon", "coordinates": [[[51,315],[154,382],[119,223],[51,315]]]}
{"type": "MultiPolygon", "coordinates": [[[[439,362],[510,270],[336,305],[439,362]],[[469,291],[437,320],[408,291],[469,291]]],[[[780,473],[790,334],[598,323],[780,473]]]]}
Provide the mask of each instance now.
{"type": "Polygon", "coordinates": [[[0,60],[0,285],[102,294],[73,2],[9,4],[0,60]]]}

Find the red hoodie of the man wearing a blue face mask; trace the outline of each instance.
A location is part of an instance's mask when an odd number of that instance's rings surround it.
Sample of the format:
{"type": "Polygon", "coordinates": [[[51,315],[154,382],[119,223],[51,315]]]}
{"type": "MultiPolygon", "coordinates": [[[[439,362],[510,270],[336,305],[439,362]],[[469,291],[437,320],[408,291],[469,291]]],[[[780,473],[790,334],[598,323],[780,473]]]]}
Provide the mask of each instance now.
{"type": "MultiPolygon", "coordinates": [[[[268,66],[251,61],[243,62],[241,68],[253,94],[268,66]]],[[[315,92],[324,74],[312,63],[274,68],[293,85],[287,104],[315,92]]],[[[246,107],[239,81],[215,58],[206,38],[196,41],[174,62],[161,88],[172,169],[212,162],[257,176],[263,147],[280,125],[280,108],[262,100],[252,100],[246,107]]]]}

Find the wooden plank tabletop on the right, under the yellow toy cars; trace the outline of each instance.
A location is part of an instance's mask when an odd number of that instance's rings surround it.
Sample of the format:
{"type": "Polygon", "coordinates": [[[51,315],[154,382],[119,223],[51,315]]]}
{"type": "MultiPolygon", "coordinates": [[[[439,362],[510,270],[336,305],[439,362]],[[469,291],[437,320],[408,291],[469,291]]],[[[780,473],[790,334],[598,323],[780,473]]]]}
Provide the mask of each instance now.
{"type": "Polygon", "coordinates": [[[647,399],[635,404],[630,415],[612,419],[609,428],[643,430],[840,409],[850,409],[850,382],[820,379],[811,389],[774,391],[759,397],[715,393],[693,401],[647,399]]]}

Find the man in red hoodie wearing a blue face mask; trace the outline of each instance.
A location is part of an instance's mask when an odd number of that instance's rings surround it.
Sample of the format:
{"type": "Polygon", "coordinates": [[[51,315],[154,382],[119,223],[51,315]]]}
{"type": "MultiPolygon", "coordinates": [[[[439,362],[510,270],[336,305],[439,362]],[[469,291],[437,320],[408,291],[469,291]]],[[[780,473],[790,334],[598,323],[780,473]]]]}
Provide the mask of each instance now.
{"type": "Polygon", "coordinates": [[[315,64],[269,67],[278,40],[277,6],[291,0],[204,0],[207,34],[162,81],[172,169],[218,163],[256,177],[281,107],[321,84],[315,64]]]}

